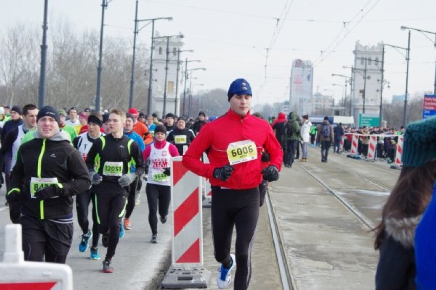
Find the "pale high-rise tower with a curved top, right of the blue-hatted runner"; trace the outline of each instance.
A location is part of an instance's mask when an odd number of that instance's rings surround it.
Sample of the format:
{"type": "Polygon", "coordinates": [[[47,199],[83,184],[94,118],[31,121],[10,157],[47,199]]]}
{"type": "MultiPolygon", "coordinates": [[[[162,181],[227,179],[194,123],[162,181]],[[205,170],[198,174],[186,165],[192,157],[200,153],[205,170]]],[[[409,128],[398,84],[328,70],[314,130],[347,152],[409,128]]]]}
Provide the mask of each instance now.
{"type": "Polygon", "coordinates": [[[303,104],[312,98],[312,94],[313,64],[311,61],[295,59],[291,69],[289,109],[299,115],[308,113],[304,111],[303,104]]]}

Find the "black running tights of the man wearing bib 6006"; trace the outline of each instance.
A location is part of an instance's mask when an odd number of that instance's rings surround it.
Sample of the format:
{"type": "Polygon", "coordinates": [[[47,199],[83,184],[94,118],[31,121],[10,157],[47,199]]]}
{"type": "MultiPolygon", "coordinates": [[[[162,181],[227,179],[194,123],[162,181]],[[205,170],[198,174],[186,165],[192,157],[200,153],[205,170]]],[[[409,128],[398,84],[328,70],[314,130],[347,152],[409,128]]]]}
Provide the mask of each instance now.
{"type": "Polygon", "coordinates": [[[211,225],[215,259],[230,259],[233,227],[236,226],[235,290],[248,288],[251,277],[251,249],[259,218],[259,188],[243,190],[212,186],[211,225]]]}

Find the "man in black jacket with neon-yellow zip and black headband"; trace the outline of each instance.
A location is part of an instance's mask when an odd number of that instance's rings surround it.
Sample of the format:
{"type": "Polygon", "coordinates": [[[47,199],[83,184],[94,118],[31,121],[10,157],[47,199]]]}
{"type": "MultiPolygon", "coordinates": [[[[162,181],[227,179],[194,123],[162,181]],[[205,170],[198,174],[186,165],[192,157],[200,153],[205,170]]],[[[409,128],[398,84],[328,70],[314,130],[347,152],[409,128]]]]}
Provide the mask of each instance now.
{"type": "Polygon", "coordinates": [[[65,263],[73,238],[73,196],[91,185],[53,107],[38,112],[35,139],[18,149],[9,203],[21,202],[25,260],[65,263]]]}

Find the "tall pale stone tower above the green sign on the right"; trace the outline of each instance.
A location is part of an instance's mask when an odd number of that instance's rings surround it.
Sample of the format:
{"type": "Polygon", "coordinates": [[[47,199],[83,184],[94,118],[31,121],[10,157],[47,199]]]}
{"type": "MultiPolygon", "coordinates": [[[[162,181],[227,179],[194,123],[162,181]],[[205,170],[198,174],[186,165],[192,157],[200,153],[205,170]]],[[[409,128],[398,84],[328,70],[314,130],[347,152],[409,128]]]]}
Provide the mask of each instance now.
{"type": "Polygon", "coordinates": [[[363,111],[365,114],[379,114],[380,112],[382,46],[382,43],[369,46],[362,45],[359,41],[356,42],[353,51],[353,97],[351,102],[352,115],[356,122],[359,120],[359,113],[363,113],[363,111]]]}

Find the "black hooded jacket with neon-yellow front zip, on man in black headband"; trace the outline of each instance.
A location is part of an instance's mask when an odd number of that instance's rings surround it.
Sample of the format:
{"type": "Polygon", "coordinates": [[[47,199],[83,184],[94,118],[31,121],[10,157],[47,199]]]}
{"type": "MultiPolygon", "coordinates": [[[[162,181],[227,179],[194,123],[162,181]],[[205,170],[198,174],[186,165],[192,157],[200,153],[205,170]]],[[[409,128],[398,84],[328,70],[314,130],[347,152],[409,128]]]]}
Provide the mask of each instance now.
{"type": "Polygon", "coordinates": [[[43,139],[38,131],[34,139],[18,149],[13,168],[11,190],[20,192],[21,212],[40,220],[72,216],[73,196],[91,186],[88,169],[80,153],[71,146],[70,136],[60,131],[43,139]],[[31,178],[57,178],[56,197],[37,200],[31,197],[31,178]]]}

